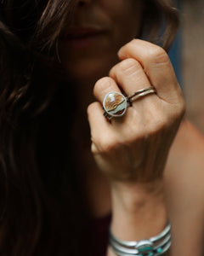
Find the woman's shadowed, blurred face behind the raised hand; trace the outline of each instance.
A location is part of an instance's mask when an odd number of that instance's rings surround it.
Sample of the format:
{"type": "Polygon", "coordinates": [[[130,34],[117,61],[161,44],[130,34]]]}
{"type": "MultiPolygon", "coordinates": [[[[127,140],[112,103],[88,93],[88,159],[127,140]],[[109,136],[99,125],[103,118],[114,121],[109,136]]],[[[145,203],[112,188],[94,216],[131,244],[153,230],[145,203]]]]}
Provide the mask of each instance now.
{"type": "Polygon", "coordinates": [[[59,56],[65,71],[79,83],[108,74],[117,51],[139,34],[140,0],[78,1],[71,26],[65,27],[59,56]]]}

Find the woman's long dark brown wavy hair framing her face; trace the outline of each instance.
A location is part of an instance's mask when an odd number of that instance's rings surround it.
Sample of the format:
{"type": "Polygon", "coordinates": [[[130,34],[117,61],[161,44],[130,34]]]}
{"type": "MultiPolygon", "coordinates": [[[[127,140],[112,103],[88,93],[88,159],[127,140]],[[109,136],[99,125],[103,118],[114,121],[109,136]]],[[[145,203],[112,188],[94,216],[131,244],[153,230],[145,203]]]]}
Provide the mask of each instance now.
{"type": "MultiPolygon", "coordinates": [[[[57,61],[59,34],[79,2],[0,0],[2,256],[85,255],[87,213],[70,154],[71,102],[57,61]]],[[[143,2],[143,37],[169,49],[177,9],[170,0],[143,2]]]]}

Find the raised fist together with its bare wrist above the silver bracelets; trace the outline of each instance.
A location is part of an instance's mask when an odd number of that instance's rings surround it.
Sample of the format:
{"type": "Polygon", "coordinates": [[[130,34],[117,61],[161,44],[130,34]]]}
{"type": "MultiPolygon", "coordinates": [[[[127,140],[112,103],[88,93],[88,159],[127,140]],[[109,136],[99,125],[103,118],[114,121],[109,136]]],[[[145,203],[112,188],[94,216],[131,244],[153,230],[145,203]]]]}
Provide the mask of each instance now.
{"type": "MultiPolygon", "coordinates": [[[[156,236],[167,224],[163,171],[184,114],[184,99],[167,53],[135,39],[118,53],[122,60],[94,86],[98,102],[88,107],[92,152],[111,181],[111,231],[124,241],[156,236]],[[134,101],[121,118],[103,116],[111,91],[129,96],[153,85],[156,94],[134,101]]],[[[108,256],[115,255],[108,250],[108,256]]]]}

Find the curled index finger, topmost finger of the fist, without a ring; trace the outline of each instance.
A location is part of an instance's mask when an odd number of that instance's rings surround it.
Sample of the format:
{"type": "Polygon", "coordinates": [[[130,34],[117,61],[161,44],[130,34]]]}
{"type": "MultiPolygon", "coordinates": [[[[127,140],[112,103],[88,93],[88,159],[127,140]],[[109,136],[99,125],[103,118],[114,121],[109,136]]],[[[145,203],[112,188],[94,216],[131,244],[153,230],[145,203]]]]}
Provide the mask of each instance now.
{"type": "Polygon", "coordinates": [[[173,66],[167,52],[156,44],[133,39],[119,50],[121,60],[134,58],[144,68],[144,72],[155,86],[157,95],[167,102],[172,102],[176,95],[181,95],[173,66]]]}

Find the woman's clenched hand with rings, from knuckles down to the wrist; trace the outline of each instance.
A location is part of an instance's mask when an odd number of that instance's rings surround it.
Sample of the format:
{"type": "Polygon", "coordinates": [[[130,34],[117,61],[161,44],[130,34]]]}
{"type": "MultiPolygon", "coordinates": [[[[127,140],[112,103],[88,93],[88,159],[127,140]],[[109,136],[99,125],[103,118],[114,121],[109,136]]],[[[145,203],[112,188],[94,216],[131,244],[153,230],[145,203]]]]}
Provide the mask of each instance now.
{"type": "Polygon", "coordinates": [[[164,49],[134,39],[120,49],[122,60],[94,86],[98,102],[88,106],[92,152],[111,181],[155,183],[184,114],[184,99],[164,49]],[[111,91],[129,96],[153,85],[156,94],[139,98],[121,118],[103,116],[111,91]]]}

